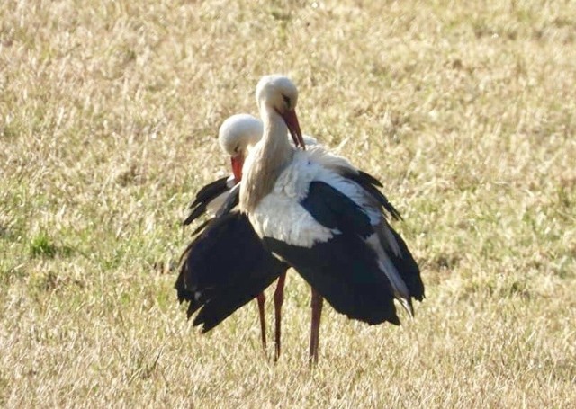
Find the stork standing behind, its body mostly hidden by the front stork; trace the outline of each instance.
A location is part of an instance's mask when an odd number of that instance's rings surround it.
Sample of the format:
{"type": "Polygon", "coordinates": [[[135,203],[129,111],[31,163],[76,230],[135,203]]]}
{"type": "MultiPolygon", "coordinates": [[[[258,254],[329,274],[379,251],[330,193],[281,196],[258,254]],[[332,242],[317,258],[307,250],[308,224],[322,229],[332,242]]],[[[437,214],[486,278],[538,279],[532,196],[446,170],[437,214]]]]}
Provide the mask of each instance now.
{"type": "MultiPolygon", "coordinates": [[[[239,114],[220,126],[219,140],[233,141],[239,154],[262,136],[262,122],[251,115],[239,114]]],[[[241,177],[241,168],[232,168],[233,176],[220,178],[204,186],[190,205],[189,225],[208,212],[215,214],[227,199],[230,189],[241,177]]],[[[188,316],[200,308],[193,325],[207,332],[238,307],[256,297],[260,318],[261,340],[266,351],[266,317],[264,289],[276,278],[284,286],[288,268],[266,252],[245,215],[238,211],[214,218],[198,227],[199,234],[188,245],[181,258],[181,271],[175,288],[180,302],[189,301],[188,316]]],[[[276,323],[276,353],[280,353],[280,324],[276,323]]]]}

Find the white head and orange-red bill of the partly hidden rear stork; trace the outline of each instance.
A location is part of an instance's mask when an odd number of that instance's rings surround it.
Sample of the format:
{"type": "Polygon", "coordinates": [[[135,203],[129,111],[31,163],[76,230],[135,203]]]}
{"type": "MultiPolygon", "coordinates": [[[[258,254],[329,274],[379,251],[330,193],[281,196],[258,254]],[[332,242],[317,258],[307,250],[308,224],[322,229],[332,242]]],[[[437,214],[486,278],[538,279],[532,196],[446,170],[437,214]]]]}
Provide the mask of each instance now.
{"type": "Polygon", "coordinates": [[[262,138],[262,121],[240,113],[222,122],[218,131],[218,142],[222,150],[230,156],[235,182],[242,179],[242,166],[247,147],[255,145],[262,138]]]}

